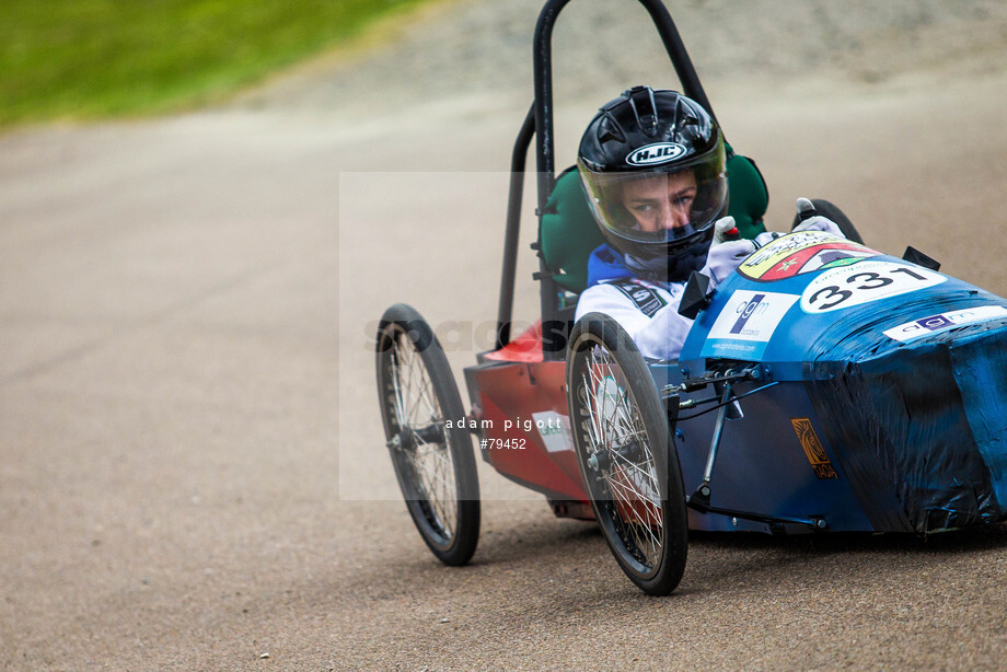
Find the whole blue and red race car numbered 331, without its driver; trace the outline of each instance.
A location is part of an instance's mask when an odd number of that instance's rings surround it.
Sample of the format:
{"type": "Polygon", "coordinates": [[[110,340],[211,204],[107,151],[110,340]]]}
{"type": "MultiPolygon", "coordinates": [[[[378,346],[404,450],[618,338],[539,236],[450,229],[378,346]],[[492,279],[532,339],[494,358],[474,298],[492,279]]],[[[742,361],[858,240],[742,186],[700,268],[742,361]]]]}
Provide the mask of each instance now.
{"type": "MultiPolygon", "coordinates": [[[[379,326],[387,448],[433,554],[460,565],[475,551],[472,433],[484,460],[544,494],[556,515],[597,520],[650,594],[679,583],[690,529],[927,534],[1007,517],[1007,300],[912,248],[899,258],[852,230],[796,232],[716,291],[696,275],[680,308],[695,321],[678,361],[645,361],[604,315],[572,324],[601,240],[576,171],[554,176],[549,35],[567,1],[549,0],[535,32],[536,97],[512,158],[498,343],[465,369],[471,410],[415,310],[393,305],[379,326]],[[532,136],[542,315],[512,339],[532,136]]],[[[640,2],[685,93],[713,114],[667,10],[640,2]]],[[[765,185],[733,152],[728,179],[730,213],[752,235],[765,185]]]]}

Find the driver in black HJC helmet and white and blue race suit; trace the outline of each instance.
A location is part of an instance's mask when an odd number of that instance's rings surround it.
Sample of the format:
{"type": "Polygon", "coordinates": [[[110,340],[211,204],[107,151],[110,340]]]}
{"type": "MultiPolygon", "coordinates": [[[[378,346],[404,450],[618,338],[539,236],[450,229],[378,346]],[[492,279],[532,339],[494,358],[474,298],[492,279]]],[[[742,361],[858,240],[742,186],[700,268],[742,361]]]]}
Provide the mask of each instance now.
{"type": "MultiPolygon", "coordinates": [[[[604,313],[644,357],[678,358],[692,326],[678,312],[691,273],[716,287],[779,235],[733,240],[725,164],[717,123],[680,93],[636,86],[599,111],[581,138],[577,167],[605,244],[588,262],[576,318],[604,313]]],[[[795,230],[809,229],[842,235],[823,217],[795,230]]]]}

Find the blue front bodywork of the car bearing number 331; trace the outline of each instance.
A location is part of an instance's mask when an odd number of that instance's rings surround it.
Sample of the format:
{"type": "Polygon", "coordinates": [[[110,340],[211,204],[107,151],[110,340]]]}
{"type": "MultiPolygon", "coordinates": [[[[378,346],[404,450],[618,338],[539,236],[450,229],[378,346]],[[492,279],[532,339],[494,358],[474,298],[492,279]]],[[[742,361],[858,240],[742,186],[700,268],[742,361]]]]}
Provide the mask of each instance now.
{"type": "MultiPolygon", "coordinates": [[[[761,362],[736,389],[710,479],[716,509],[928,533],[1007,517],[1007,300],[820,232],[759,250],[714,293],[659,387],[761,362]]],[[[690,395],[683,395],[685,399],[690,395]]],[[[693,393],[709,396],[709,391],[693,393]]],[[[715,413],[682,412],[686,491],[715,413]]],[[[807,531],[690,511],[699,530],[807,531]]],[[[753,520],[754,519],[754,520],[753,520]]]]}

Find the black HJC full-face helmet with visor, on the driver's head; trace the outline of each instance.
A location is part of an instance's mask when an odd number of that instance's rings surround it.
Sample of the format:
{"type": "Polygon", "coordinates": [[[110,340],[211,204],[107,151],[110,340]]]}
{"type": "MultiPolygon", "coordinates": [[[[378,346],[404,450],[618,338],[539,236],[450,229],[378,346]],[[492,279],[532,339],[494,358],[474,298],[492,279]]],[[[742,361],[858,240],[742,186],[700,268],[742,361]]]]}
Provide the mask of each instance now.
{"type": "Polygon", "coordinates": [[[591,120],[577,166],[594,218],[632,270],[682,280],[727,211],[724,137],[695,101],[635,86],[591,120]]]}

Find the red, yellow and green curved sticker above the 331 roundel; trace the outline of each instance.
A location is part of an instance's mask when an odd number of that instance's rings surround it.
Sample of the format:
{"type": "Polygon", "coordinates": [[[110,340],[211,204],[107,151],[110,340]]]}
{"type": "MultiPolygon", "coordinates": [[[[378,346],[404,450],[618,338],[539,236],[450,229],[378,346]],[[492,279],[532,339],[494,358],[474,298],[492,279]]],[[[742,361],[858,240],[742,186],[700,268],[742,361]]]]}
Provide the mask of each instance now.
{"type": "Polygon", "coordinates": [[[878,256],[878,252],[824,231],[798,231],[776,239],[757,250],[738,267],[751,280],[773,282],[855,264],[878,256]]]}

